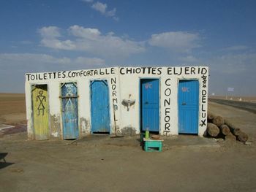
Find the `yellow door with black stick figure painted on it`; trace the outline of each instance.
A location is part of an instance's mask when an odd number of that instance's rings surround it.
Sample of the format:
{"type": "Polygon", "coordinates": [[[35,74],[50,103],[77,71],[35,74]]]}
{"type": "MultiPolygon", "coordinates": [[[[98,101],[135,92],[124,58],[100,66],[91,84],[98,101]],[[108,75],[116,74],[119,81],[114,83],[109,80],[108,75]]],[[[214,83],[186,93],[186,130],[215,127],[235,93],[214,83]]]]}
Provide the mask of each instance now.
{"type": "Polygon", "coordinates": [[[47,85],[32,85],[34,138],[49,139],[49,112],[47,85]]]}

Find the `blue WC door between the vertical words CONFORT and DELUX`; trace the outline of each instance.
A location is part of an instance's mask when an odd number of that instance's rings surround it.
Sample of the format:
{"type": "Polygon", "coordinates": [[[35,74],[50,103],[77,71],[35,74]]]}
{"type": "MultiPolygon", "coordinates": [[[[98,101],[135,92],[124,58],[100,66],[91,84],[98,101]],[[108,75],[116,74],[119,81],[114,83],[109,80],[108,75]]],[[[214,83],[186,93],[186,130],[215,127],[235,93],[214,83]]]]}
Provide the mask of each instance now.
{"type": "Polygon", "coordinates": [[[178,84],[178,133],[198,134],[197,80],[181,80],[178,84]]]}

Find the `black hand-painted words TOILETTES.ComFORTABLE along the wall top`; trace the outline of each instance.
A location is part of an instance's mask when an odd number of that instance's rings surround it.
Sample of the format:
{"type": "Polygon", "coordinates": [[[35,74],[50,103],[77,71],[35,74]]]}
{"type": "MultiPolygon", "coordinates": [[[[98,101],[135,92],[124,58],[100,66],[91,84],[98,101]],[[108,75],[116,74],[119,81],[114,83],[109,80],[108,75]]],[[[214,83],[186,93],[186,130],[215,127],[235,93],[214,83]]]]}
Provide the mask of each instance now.
{"type": "Polygon", "coordinates": [[[26,80],[28,81],[55,80],[55,79],[65,79],[65,78],[72,78],[72,77],[91,77],[91,76],[107,75],[107,74],[115,74],[115,68],[26,74],[26,80]]]}

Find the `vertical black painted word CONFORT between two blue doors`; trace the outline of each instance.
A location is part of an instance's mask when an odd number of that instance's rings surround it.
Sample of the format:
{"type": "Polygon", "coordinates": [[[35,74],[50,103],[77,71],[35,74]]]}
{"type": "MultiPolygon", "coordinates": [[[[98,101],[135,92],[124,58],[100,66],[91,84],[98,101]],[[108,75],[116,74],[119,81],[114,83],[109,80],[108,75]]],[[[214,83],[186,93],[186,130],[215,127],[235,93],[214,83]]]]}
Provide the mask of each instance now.
{"type": "Polygon", "coordinates": [[[164,134],[167,135],[170,133],[170,94],[172,93],[170,89],[170,79],[165,80],[165,100],[164,100],[164,107],[165,107],[165,130],[164,134]]]}

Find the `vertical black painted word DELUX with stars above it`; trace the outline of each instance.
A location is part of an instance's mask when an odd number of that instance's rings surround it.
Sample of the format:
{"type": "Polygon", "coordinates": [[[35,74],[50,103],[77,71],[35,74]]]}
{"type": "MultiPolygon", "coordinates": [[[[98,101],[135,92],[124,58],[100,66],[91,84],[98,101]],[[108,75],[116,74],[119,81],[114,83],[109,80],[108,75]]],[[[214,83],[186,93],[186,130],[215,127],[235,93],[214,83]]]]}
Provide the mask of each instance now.
{"type": "MultiPolygon", "coordinates": [[[[206,70],[207,72],[207,70],[206,70]]],[[[201,91],[201,122],[200,126],[206,126],[206,100],[207,100],[207,76],[203,74],[202,79],[202,91],[201,91]]]]}

